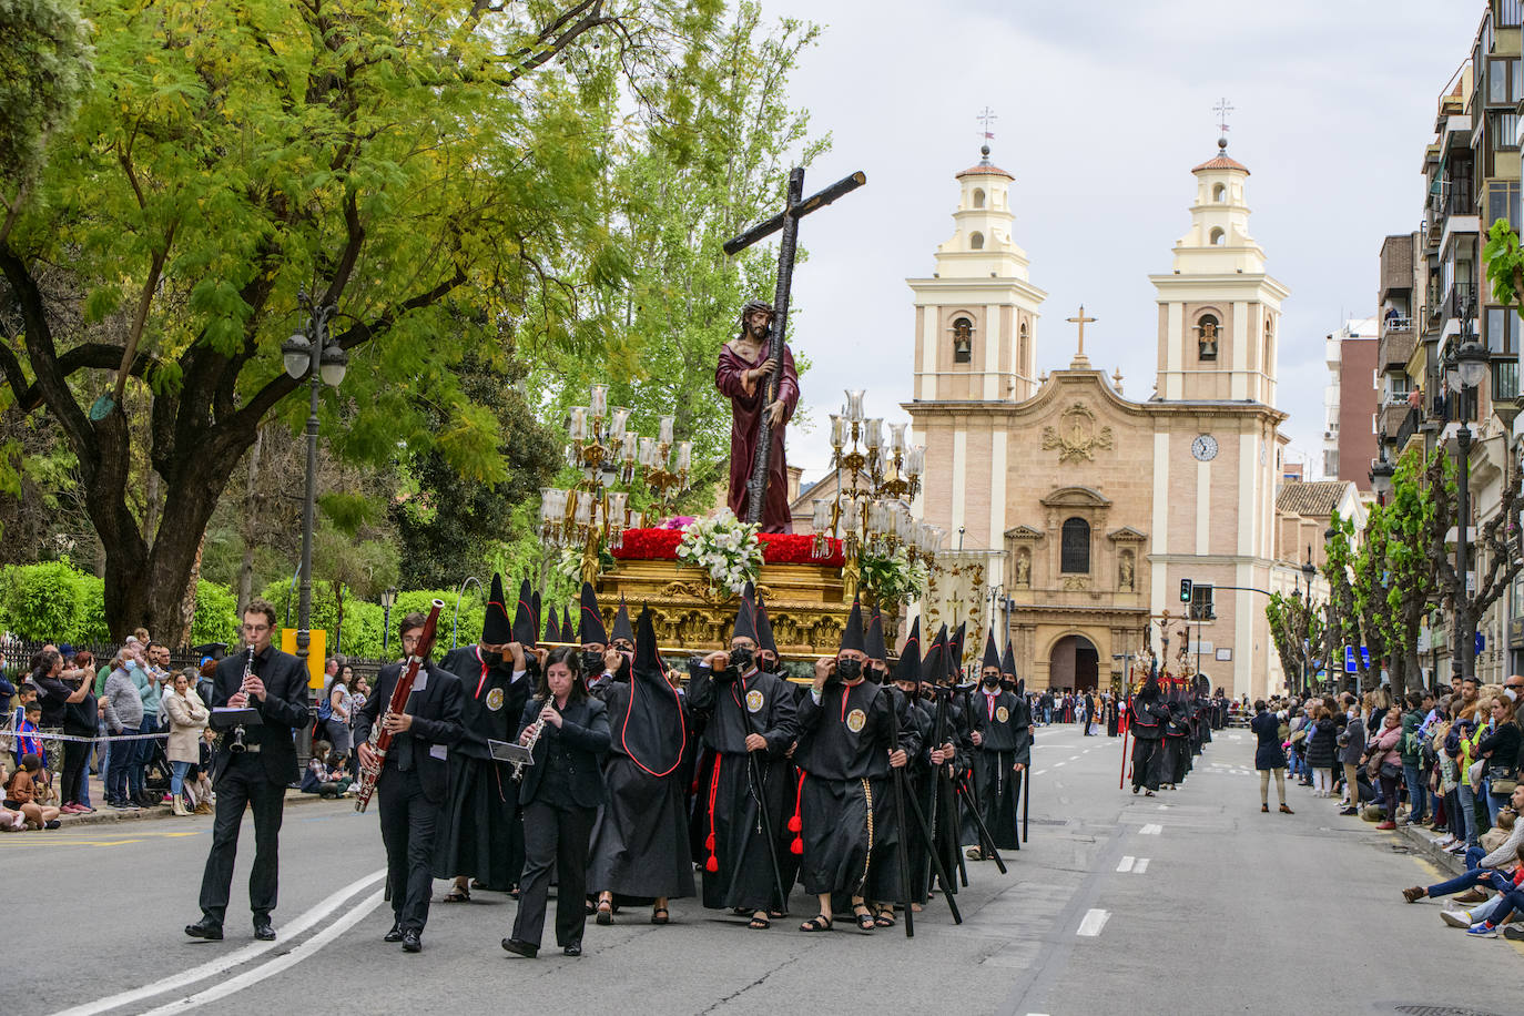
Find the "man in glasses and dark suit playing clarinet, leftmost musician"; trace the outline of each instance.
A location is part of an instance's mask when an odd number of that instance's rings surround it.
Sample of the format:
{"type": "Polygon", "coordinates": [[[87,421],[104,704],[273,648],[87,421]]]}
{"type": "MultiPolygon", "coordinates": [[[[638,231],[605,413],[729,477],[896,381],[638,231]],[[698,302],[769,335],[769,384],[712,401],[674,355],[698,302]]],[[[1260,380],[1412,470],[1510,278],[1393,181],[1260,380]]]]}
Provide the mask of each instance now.
{"type": "Polygon", "coordinates": [[[276,937],[270,912],[276,908],[280,818],[285,789],[299,777],[291,736],[311,719],[306,711],[306,672],[296,657],[270,644],[274,626],[276,608],[265,600],[250,600],[244,608],[244,643],[253,649],[253,657],[247,652],[226,657],[212,678],[213,710],[253,708],[259,711],[259,722],[244,728],[244,751],[235,751],[239,740],[227,736],[212,757],[216,813],[212,820],[212,850],[201,874],[201,920],[186,925],[192,938],[215,941],[223,937],[238,829],[248,807],[255,812],[255,868],[248,876],[255,938],[273,941],[276,937]]]}

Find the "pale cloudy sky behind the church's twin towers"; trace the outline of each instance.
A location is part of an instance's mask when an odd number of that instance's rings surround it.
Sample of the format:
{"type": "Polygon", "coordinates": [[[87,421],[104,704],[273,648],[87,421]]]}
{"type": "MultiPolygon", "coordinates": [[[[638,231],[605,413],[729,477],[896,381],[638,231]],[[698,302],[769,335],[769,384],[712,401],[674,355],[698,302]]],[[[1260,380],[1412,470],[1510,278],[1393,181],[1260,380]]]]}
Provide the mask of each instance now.
{"type": "MultiPolygon", "coordinates": [[[[1152,391],[1149,273],[1187,230],[1190,168],[1216,151],[1227,96],[1230,154],[1251,177],[1251,232],[1291,288],[1280,350],[1292,460],[1320,460],[1323,338],[1375,312],[1387,233],[1422,213],[1420,163],[1436,97],[1466,58],[1480,0],[762,0],[770,17],[826,27],[791,93],[834,149],[806,193],[863,169],[864,189],[805,221],[794,347],[814,359],[817,420],[844,387],[904,419],[911,294],[952,230],[952,174],[978,158],[975,114],[998,114],[994,160],[1015,175],[1015,239],[1047,289],[1038,367],[1068,364],[1079,303],[1099,318],[1087,353],[1152,391]]],[[[824,440],[789,437],[806,478],[824,440]]]]}

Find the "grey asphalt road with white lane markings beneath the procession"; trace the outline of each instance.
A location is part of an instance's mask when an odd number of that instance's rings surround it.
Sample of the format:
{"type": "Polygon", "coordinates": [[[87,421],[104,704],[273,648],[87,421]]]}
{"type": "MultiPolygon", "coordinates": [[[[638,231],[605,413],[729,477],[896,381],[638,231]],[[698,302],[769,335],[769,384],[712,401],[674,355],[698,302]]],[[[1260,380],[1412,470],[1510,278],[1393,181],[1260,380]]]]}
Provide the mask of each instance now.
{"type": "MultiPolygon", "coordinates": [[[[933,903],[901,928],[767,932],[693,900],[588,925],[585,954],[498,947],[515,903],[442,905],[421,955],[381,943],[376,820],[352,804],[288,809],[276,943],[253,940],[245,823],[229,937],[186,938],[210,820],[151,820],[0,836],[17,1013],[1396,1013],[1524,1011],[1515,943],[1445,928],[1399,890],[1437,873],[1393,833],[1291,788],[1259,812],[1247,731],[1225,731],[1180,791],[1117,791],[1122,745],[1038,731],[1032,839],[1009,876],[971,864],[963,925],[933,903]],[[1274,807],[1274,803],[1273,803],[1274,807]],[[1411,1010],[1408,1010],[1411,1011],[1411,1010]]],[[[1274,791],[1271,791],[1274,795],[1274,791]]],[[[547,935],[547,941],[552,938],[547,935]]],[[[15,1005],[15,1008],[12,1008],[15,1005]]]]}

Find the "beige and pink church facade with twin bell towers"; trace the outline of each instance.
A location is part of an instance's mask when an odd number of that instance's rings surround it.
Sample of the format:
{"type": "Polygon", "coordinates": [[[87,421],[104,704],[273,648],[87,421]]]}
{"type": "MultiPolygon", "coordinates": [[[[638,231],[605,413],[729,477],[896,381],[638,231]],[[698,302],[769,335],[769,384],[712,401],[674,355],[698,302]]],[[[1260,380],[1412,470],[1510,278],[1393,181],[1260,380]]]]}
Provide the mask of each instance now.
{"type": "Polygon", "coordinates": [[[1279,673],[1259,591],[1276,570],[1286,443],[1276,359],[1289,292],[1248,233],[1248,169],[1219,142],[1192,174],[1190,232],[1172,270],[1151,276],[1158,369],[1145,401],[1090,363],[1084,309],[1070,318],[1079,352],[1068,369],[1035,376],[1045,294],[1013,241],[1012,177],[988,149],[957,174],[956,232],[933,276],[907,280],[916,335],[904,408],[927,446],[913,507],[949,533],[954,556],[962,547],[980,561],[1006,608],[986,612],[1029,687],[1106,687],[1123,673],[1114,657],[1149,637],[1160,649],[1161,623],[1173,672],[1189,643],[1187,669],[1199,660],[1230,695],[1263,695],[1279,673]]]}

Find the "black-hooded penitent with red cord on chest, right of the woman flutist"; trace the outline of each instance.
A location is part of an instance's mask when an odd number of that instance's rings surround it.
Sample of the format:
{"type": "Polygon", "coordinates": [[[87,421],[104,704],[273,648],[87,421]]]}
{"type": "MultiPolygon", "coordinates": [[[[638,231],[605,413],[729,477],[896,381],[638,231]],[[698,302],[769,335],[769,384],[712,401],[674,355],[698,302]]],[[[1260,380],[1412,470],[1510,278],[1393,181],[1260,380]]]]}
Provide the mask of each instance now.
{"type": "Polygon", "coordinates": [[[660,667],[610,682],[607,794],[588,845],[587,885],[622,899],[693,894],[683,760],[689,724],[660,667]]]}

